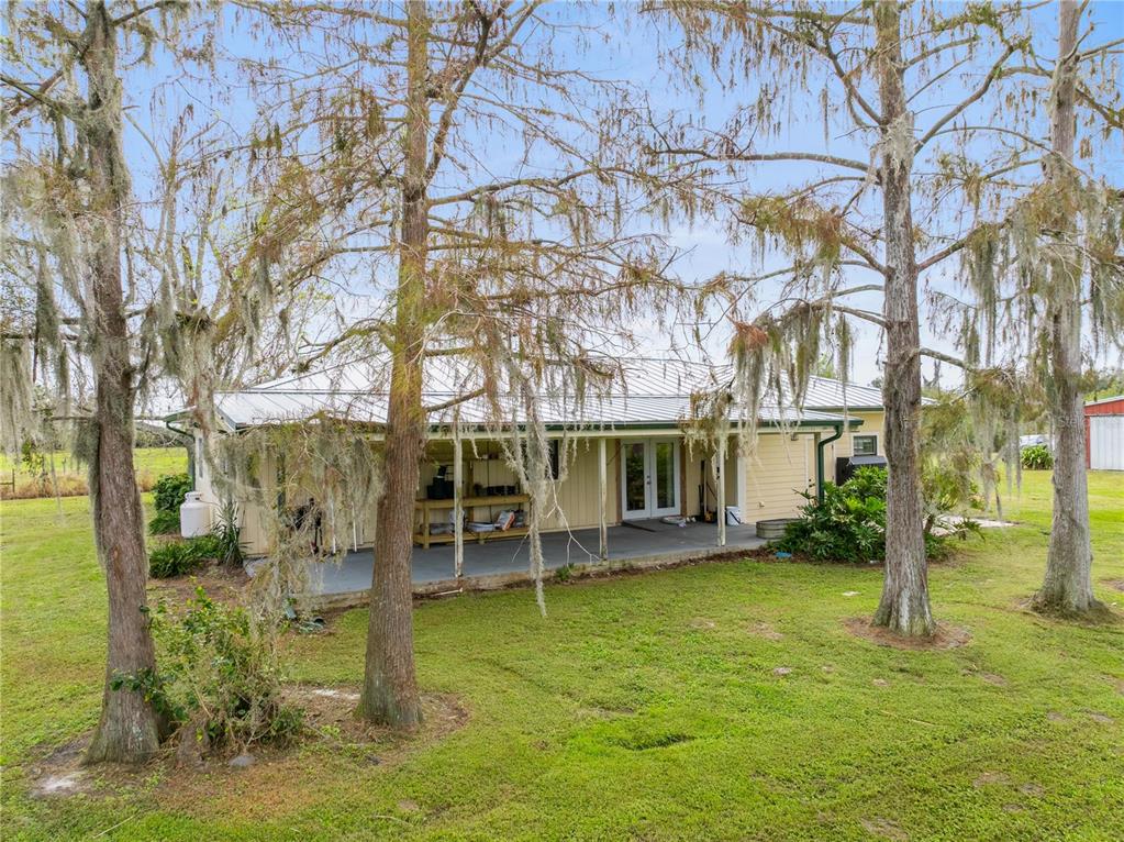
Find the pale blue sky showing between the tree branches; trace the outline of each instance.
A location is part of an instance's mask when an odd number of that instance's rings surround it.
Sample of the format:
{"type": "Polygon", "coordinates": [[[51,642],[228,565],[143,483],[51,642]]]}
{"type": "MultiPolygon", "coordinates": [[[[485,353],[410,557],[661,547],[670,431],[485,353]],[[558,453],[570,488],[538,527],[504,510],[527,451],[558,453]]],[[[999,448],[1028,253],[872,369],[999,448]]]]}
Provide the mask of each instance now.
{"type": "MultiPolygon", "coordinates": [[[[387,4],[388,8],[397,8],[395,4],[387,4]]],[[[957,8],[954,3],[946,3],[948,9],[957,8]]],[[[645,94],[655,114],[663,114],[673,119],[691,119],[699,125],[710,127],[720,126],[728,118],[732,110],[741,105],[750,102],[759,90],[761,76],[752,73],[746,74],[743,84],[733,88],[722,88],[717,80],[705,67],[700,66],[700,76],[706,84],[704,91],[686,90],[681,83],[676,82],[664,69],[661,61],[661,51],[674,48],[679,36],[672,29],[653,28],[651,21],[640,19],[629,12],[635,7],[623,4],[617,7],[617,13],[607,13],[607,7],[587,4],[580,9],[569,7],[564,3],[555,4],[546,11],[546,15],[565,22],[582,20],[590,26],[588,30],[588,48],[578,52],[562,51],[562,58],[572,55],[575,63],[580,63],[583,70],[595,75],[611,76],[626,81],[645,94]],[[624,12],[624,13],[622,13],[624,12]]],[[[149,132],[160,133],[166,130],[170,118],[179,115],[188,105],[193,110],[193,120],[202,124],[210,117],[218,117],[229,121],[237,129],[248,127],[257,116],[260,108],[265,103],[255,101],[252,92],[245,85],[243,78],[237,73],[233,60],[238,56],[261,57],[272,55],[278,61],[293,70],[300,70],[302,61],[297,51],[291,49],[277,38],[263,38],[262,31],[253,29],[250,25],[251,18],[245,13],[235,13],[229,7],[220,12],[219,24],[216,28],[217,43],[220,45],[220,61],[216,64],[216,76],[208,79],[209,71],[199,67],[190,67],[187,73],[183,69],[173,64],[166,54],[156,55],[156,61],[147,67],[134,67],[128,71],[127,97],[134,105],[132,114],[149,132]],[[215,82],[210,87],[210,82],[215,82]],[[155,96],[154,94],[158,94],[155,96]]],[[[1043,55],[1050,56],[1053,53],[1052,37],[1055,31],[1054,9],[1051,7],[1040,8],[1033,12],[1032,22],[1035,33],[1036,46],[1043,55]]],[[[1124,36],[1124,4],[1102,0],[1094,2],[1090,8],[1089,19],[1097,27],[1094,40],[1107,40],[1124,36]]],[[[309,47],[305,43],[302,47],[309,47]]],[[[975,66],[969,65],[977,75],[982,72],[982,65],[977,62],[975,66]]],[[[482,78],[483,79],[483,78],[482,78]]],[[[767,81],[774,81],[765,76],[767,81]]],[[[484,80],[486,81],[486,80],[484,80]]],[[[964,82],[964,88],[971,83],[971,79],[964,82]]],[[[963,90],[963,89],[961,89],[963,90]]],[[[942,90],[939,96],[922,99],[918,102],[921,124],[930,112],[940,112],[948,108],[954,99],[957,90],[942,90]]],[[[990,109],[991,106],[989,105],[990,109]]],[[[794,148],[819,151],[824,147],[823,128],[821,121],[822,106],[819,102],[819,89],[813,84],[812,90],[803,98],[795,99],[785,114],[783,128],[778,136],[769,138],[763,151],[794,148]]],[[[990,115],[979,112],[980,119],[989,119],[990,115]]],[[[495,143],[492,138],[482,137],[482,143],[495,143]]],[[[489,163],[497,169],[502,169],[505,159],[505,146],[507,154],[513,156],[515,138],[501,138],[495,148],[490,150],[489,163]]],[[[864,148],[855,148],[854,144],[845,137],[832,137],[828,144],[831,152],[836,154],[847,154],[860,159],[865,159],[868,153],[864,148]]],[[[146,172],[151,168],[151,153],[144,142],[142,142],[134,130],[129,130],[126,146],[127,155],[134,163],[136,184],[138,193],[145,192],[147,184],[146,172]]],[[[552,164],[549,160],[534,162],[543,169],[549,169],[552,164]]],[[[1107,174],[1112,180],[1120,182],[1121,173],[1124,172],[1124,153],[1121,148],[1120,135],[1115,135],[1107,144],[1102,144],[1096,153],[1096,165],[1099,171],[1107,174]]],[[[743,171],[746,178],[751,179],[752,188],[756,192],[770,190],[783,190],[792,187],[816,174],[813,166],[787,163],[783,165],[761,165],[753,170],[743,171]]],[[[453,187],[457,183],[457,175],[443,175],[445,184],[453,187]]],[[[950,219],[950,225],[952,220],[950,219]]],[[[652,223],[645,219],[636,219],[634,225],[637,230],[651,228],[652,223]]],[[[734,271],[745,274],[760,273],[763,270],[778,268],[785,264],[783,257],[770,254],[764,262],[759,262],[751,250],[744,244],[731,245],[724,229],[724,219],[697,219],[694,223],[687,220],[673,221],[670,230],[665,234],[668,242],[681,252],[677,261],[677,272],[685,280],[701,280],[720,271],[734,271]]],[[[951,264],[950,264],[951,265],[951,264]]],[[[933,279],[941,284],[951,284],[951,280],[933,279]]],[[[357,291],[370,292],[371,289],[363,288],[363,284],[355,284],[357,291]]],[[[763,292],[768,300],[768,290],[763,292]]],[[[862,302],[864,306],[877,309],[877,299],[862,302]]],[[[923,316],[924,319],[924,316],[923,316]]],[[[926,342],[941,350],[951,351],[951,345],[946,337],[925,331],[926,342]]],[[[708,341],[708,351],[720,354],[727,333],[722,325],[717,325],[708,341]]],[[[878,375],[878,351],[879,343],[877,333],[863,327],[860,331],[861,341],[856,343],[854,359],[854,379],[860,382],[869,382],[878,375]]],[[[652,331],[644,332],[644,343],[652,354],[665,353],[670,346],[682,347],[686,342],[682,335],[669,336],[652,331]]]]}

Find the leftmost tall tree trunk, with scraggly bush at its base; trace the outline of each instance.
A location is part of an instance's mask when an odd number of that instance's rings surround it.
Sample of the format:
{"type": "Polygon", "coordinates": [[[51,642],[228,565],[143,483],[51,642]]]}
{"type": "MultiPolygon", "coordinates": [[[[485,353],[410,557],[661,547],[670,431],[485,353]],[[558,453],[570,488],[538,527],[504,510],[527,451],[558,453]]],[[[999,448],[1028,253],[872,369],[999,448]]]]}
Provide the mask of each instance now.
{"type": "Polygon", "coordinates": [[[82,63],[90,88],[85,139],[94,237],[91,305],[97,384],[90,505],[109,591],[109,652],[101,719],[85,760],[137,763],[160,748],[158,717],[142,694],[110,687],[116,674],[156,670],[145,592],[144,509],[133,469],[133,369],[121,288],[120,226],[127,184],[120,160],[121,89],[108,12],[103,4],[91,3],[88,13],[93,37],[82,63]]]}

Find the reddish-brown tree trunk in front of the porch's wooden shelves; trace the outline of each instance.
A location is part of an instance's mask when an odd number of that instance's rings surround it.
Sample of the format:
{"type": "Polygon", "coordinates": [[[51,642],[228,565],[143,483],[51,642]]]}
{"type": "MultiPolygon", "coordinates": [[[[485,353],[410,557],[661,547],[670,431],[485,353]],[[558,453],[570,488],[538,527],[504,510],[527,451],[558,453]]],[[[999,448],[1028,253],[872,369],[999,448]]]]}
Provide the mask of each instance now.
{"type": "Polygon", "coordinates": [[[425,0],[407,3],[406,173],[401,252],[387,414],[386,485],[374,536],[374,573],[366,632],[366,666],[360,714],[393,727],[422,722],[414,670],[414,499],[425,447],[422,404],[423,310],[429,237],[426,165],[429,110],[428,17],[425,0]]]}

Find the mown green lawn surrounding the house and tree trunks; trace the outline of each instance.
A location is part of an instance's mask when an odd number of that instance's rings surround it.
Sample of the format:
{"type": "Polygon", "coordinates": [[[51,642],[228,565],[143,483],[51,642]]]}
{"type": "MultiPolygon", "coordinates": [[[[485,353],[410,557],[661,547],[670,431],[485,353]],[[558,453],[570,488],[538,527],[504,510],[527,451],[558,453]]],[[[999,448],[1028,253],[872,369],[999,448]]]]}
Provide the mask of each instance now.
{"type": "MultiPolygon", "coordinates": [[[[931,571],[971,643],[853,637],[878,570],[734,561],[428,601],[419,680],[471,712],[375,764],[319,743],[172,789],[35,799],[28,768],[91,728],[105,586],[85,498],[3,504],[4,839],[1124,838],[1124,624],[1018,609],[1041,579],[1049,477],[931,571]],[[845,596],[858,591],[856,596],[845,596]],[[791,671],[774,674],[778,667],[791,671]]],[[[1124,474],[1090,474],[1100,599],[1124,614],[1124,474]]],[[[300,637],[297,677],[356,682],[365,615],[300,637]]]]}

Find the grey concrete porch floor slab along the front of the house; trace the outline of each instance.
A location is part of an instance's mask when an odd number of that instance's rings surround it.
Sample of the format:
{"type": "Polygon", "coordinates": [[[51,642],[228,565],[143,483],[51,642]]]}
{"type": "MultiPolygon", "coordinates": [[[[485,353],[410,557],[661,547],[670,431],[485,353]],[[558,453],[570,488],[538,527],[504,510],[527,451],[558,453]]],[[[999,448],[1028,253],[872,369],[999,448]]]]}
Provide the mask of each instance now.
{"type": "MultiPolygon", "coordinates": [[[[725,527],[725,546],[715,541],[716,524],[676,526],[660,520],[629,522],[607,527],[608,549],[601,556],[598,528],[544,533],[543,555],[549,571],[572,567],[575,571],[658,567],[752,550],[765,542],[752,525],[725,527]]],[[[450,544],[414,547],[414,591],[434,595],[459,590],[488,590],[531,581],[527,540],[507,538],[484,544],[465,542],[461,576],[456,576],[455,550],[450,544]]],[[[371,587],[373,552],[347,552],[341,563],[309,562],[311,596],[324,606],[346,607],[366,600],[371,587]]]]}

